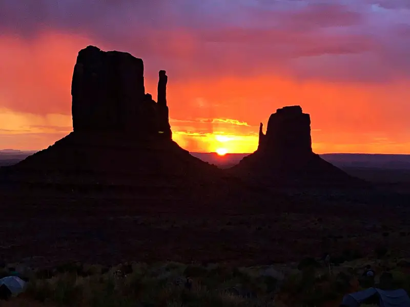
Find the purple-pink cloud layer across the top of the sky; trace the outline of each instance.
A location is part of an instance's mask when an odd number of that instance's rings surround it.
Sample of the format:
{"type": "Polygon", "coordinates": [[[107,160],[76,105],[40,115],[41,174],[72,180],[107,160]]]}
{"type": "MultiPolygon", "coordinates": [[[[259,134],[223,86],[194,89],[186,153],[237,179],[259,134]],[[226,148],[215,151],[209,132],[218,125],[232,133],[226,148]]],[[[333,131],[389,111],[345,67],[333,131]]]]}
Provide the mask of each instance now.
{"type": "Polygon", "coordinates": [[[1,0],[0,30],[28,39],[47,31],[84,35],[95,45],[142,57],[155,70],[167,68],[174,78],[292,69],[301,78],[380,82],[410,76],[403,52],[410,47],[408,4],[1,0]]]}

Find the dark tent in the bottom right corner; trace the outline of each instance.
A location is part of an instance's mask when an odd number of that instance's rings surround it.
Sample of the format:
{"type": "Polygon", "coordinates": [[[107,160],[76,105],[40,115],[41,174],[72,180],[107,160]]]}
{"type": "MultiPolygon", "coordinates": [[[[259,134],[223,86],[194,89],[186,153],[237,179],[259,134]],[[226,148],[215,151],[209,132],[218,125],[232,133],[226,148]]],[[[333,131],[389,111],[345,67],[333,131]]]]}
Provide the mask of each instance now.
{"type": "Polygon", "coordinates": [[[358,307],[360,304],[377,304],[380,307],[410,307],[410,298],[403,289],[381,290],[369,288],[346,294],[341,306],[358,307]]]}

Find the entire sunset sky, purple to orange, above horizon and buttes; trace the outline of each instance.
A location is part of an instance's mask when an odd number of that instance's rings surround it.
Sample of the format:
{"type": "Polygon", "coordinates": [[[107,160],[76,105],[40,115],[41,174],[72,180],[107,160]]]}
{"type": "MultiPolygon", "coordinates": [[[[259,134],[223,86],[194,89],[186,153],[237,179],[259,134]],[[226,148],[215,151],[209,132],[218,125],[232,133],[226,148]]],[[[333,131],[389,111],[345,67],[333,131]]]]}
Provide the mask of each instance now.
{"type": "Polygon", "coordinates": [[[311,115],[317,153],[410,153],[410,0],[0,0],[0,148],[72,131],[80,49],[130,52],[173,139],[253,152],[285,105],[311,115]]]}

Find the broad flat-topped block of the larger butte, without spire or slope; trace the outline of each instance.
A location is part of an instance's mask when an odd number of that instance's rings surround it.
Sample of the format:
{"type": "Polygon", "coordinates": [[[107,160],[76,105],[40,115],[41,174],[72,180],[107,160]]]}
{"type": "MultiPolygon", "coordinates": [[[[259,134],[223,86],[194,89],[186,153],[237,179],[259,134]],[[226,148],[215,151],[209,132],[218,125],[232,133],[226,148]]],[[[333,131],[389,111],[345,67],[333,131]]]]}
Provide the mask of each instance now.
{"type": "Polygon", "coordinates": [[[88,46],[78,53],[71,95],[74,131],[135,133],[144,116],[144,63],[88,46]]]}

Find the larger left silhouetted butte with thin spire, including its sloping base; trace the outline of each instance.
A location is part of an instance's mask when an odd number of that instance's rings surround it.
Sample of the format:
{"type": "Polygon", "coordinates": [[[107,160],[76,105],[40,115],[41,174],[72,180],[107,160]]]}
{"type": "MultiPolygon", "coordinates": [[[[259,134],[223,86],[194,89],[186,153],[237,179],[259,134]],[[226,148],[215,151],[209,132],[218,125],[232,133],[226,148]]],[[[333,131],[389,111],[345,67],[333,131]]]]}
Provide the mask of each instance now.
{"type": "Polygon", "coordinates": [[[172,140],[167,81],[159,71],[155,102],[145,93],[141,59],[92,46],[81,50],[71,89],[73,132],[8,168],[8,179],[184,189],[221,180],[221,170],[172,140]]]}

